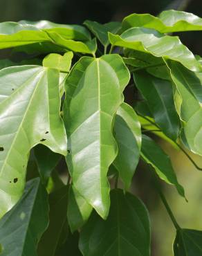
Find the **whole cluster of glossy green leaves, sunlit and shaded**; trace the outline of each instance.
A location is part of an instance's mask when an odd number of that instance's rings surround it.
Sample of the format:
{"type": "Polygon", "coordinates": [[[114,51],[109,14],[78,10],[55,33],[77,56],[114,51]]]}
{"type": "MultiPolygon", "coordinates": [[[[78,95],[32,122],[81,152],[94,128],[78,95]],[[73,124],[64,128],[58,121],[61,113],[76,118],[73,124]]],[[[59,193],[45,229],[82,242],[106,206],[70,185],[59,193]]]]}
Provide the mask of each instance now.
{"type": "Polygon", "coordinates": [[[22,56],[0,63],[1,255],[149,256],[149,213],[129,192],[141,161],[176,228],[174,256],[202,255],[201,231],[181,228],[160,190],[187,200],[154,141],[202,155],[201,57],[172,35],[188,30],[202,19],[175,10],[0,24],[1,51],[22,56]]]}

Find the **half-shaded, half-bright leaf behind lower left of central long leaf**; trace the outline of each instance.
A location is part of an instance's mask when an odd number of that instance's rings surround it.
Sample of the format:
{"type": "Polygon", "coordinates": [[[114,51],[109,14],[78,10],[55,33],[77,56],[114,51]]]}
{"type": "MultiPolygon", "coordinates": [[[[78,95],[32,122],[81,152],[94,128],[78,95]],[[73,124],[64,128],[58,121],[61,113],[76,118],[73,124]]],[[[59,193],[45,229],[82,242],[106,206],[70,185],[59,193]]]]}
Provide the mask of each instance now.
{"type": "Polygon", "coordinates": [[[89,219],[93,208],[86,200],[77,192],[73,185],[68,192],[68,209],[67,219],[71,228],[71,232],[82,228],[84,223],[89,219]]]}

